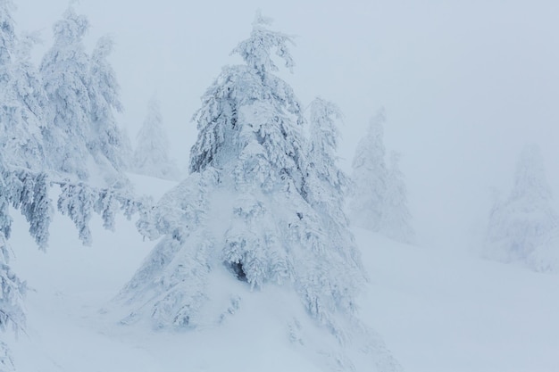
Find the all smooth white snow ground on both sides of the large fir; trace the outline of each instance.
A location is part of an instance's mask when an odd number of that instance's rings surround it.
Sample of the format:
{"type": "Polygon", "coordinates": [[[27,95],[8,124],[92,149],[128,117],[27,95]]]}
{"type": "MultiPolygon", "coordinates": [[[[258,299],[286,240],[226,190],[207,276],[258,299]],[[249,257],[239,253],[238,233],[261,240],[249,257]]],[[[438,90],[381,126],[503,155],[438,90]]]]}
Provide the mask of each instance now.
{"type": "MultiPolygon", "coordinates": [[[[131,178],[138,193],[155,198],[174,185],[131,178]]],[[[25,221],[14,216],[13,269],[32,288],[27,331],[8,340],[19,371],[320,370],[315,354],[306,352],[312,345],[285,336],[292,319],[282,309],[300,307],[294,294],[273,286],[250,292],[229,280],[246,293],[221,327],[170,333],[123,326],[104,310],[154,242],[143,241],[122,217],[115,233],[104,231],[95,217],[93,245],[84,247],[71,221],[57,214],[44,253],[27,234],[25,221]],[[60,231],[67,234],[54,233],[60,231]]],[[[559,370],[559,276],[479,260],[452,247],[441,252],[354,232],[370,277],[360,298],[361,318],[405,370],[559,370]]]]}

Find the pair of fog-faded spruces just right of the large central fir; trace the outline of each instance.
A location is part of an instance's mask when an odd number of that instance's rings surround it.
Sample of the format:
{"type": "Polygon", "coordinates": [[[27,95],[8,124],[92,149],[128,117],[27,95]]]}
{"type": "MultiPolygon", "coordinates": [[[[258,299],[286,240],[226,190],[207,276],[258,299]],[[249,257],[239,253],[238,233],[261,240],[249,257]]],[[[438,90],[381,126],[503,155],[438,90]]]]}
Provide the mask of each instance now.
{"type": "Polygon", "coordinates": [[[404,175],[398,166],[400,155],[391,154],[390,167],[385,161],[385,122],[386,114],[382,109],[371,119],[367,135],[357,145],[352,175],[354,189],[349,209],[356,226],[411,243],[413,228],[407,208],[404,175]]]}

